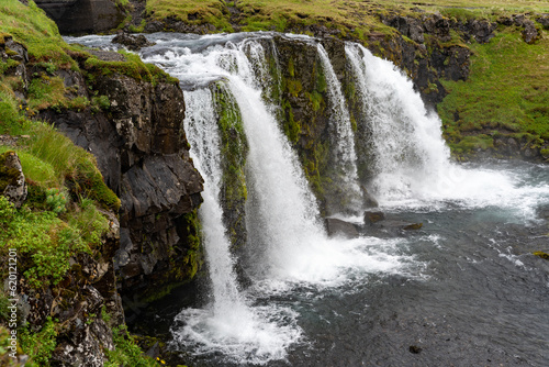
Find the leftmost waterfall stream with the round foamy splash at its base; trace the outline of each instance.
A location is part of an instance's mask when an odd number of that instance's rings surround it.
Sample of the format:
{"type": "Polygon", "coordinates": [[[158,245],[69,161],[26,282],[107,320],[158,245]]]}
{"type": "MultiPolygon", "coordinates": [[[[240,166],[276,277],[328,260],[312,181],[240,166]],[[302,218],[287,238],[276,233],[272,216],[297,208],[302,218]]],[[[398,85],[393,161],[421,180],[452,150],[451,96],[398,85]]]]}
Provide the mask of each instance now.
{"type": "Polygon", "coordinates": [[[250,308],[236,283],[220,204],[223,173],[212,93],[208,88],[188,91],[184,102],[188,111],[184,129],[192,145],[191,155],[204,177],[204,202],[199,213],[212,302],[206,309],[187,309],[176,318],[182,326],[175,327],[175,342],[194,346],[197,353],[222,351],[236,360],[243,354],[253,354],[248,357],[248,362],[253,363],[283,358],[288,345],[299,340],[299,329],[277,325],[271,321],[273,318],[268,309],[250,308]]]}

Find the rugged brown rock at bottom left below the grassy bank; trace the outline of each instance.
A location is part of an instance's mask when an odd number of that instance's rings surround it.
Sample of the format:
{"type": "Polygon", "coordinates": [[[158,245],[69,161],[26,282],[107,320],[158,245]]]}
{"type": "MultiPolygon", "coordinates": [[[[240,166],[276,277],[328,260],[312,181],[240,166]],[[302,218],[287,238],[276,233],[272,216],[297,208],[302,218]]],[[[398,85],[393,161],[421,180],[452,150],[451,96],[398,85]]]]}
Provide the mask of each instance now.
{"type": "Polygon", "coordinates": [[[112,212],[104,214],[110,219],[110,230],[102,238],[99,257],[87,253],[71,257],[70,270],[55,287],[18,285],[21,324],[37,331],[49,318],[56,320],[57,345],[49,360],[54,366],[102,367],[107,351],[114,349],[111,327],[124,323],[112,262],[120,227],[112,212]],[[110,320],[103,319],[103,313],[110,320]]]}

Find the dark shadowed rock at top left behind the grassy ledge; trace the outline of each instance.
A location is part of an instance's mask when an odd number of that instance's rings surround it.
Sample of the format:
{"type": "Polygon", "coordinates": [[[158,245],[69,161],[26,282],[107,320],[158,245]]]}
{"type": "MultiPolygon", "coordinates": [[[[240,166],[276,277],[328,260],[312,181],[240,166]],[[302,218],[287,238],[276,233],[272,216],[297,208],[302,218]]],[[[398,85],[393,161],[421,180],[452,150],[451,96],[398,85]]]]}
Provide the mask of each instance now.
{"type": "Polygon", "coordinates": [[[97,33],[110,31],[124,20],[124,12],[114,0],[36,0],[59,32],[97,33]]]}

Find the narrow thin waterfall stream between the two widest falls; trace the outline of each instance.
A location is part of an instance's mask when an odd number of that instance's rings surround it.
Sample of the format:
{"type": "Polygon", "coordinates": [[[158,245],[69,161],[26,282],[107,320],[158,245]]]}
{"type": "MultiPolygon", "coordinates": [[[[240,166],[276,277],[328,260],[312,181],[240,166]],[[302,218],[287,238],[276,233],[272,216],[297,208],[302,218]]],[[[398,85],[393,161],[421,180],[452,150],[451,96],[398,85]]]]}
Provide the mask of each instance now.
{"type": "Polygon", "coordinates": [[[341,92],[341,84],[337,79],[329,57],[318,44],[318,56],[326,78],[329,104],[332,107],[330,127],[334,145],[334,163],[336,165],[336,182],[343,186],[350,202],[344,207],[359,212],[362,209],[362,194],[358,186],[357,154],[355,152],[355,134],[352,132],[349,111],[341,92]]]}

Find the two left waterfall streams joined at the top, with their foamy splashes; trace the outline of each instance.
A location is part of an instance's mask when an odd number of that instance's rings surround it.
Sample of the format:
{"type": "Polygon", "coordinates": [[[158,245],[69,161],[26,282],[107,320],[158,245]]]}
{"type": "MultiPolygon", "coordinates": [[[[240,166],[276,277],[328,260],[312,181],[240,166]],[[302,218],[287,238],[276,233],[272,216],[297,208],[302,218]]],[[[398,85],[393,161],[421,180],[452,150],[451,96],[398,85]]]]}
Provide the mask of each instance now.
{"type": "Polygon", "coordinates": [[[399,271],[412,262],[395,249],[401,240],[327,238],[299,159],[279,127],[274,108],[261,97],[262,85],[270,80],[260,43],[228,42],[200,53],[170,47],[147,60],[198,87],[186,92],[186,130],[205,180],[201,220],[213,304],[204,310],[187,309],[178,315],[172,330],[176,344],[191,347],[195,354],[222,352],[236,363],[283,359],[289,345],[302,342],[295,314],[284,307],[254,305],[254,299],[305,283],[335,287],[356,271],[399,271]],[[249,269],[255,285],[245,294],[236,286],[222,223],[219,133],[212,97],[201,87],[208,80],[222,80],[227,87],[238,105],[249,146],[247,247],[257,266],[249,269]],[[201,125],[191,126],[191,122],[201,125]]]}

